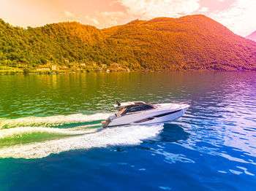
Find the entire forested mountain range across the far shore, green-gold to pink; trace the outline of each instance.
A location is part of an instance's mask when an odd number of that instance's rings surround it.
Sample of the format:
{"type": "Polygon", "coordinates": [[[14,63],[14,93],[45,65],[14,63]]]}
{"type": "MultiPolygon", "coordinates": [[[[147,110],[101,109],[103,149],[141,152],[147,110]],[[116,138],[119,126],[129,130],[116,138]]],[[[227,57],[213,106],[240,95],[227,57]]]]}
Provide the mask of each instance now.
{"type": "Polygon", "coordinates": [[[256,42],[204,15],[98,29],[76,22],[19,28],[0,20],[0,65],[72,63],[151,70],[256,70],[256,42]]]}

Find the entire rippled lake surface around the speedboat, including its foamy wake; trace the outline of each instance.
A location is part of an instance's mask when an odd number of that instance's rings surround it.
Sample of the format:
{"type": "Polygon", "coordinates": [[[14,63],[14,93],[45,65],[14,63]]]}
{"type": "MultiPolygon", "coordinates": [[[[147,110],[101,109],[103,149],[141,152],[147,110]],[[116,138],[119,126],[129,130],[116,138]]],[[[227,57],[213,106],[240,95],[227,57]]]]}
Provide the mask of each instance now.
{"type": "Polygon", "coordinates": [[[256,73],[6,76],[0,90],[0,190],[256,189],[256,73]],[[192,101],[170,124],[102,130],[115,98],[192,101]]]}

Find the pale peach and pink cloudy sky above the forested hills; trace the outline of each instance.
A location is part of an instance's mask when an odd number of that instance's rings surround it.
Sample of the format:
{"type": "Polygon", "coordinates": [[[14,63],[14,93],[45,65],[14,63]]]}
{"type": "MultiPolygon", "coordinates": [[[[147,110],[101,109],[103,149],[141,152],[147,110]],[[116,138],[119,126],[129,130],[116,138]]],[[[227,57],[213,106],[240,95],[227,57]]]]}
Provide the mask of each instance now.
{"type": "Polygon", "coordinates": [[[203,14],[247,36],[256,31],[255,12],[256,0],[0,0],[0,18],[24,28],[68,20],[108,28],[135,19],[203,14]]]}

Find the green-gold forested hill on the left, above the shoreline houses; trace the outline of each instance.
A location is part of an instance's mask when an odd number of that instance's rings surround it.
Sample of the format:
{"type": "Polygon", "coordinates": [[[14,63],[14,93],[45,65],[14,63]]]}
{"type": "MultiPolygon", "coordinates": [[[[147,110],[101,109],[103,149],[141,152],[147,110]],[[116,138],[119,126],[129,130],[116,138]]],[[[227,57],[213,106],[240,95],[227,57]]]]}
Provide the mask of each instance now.
{"type": "Polygon", "coordinates": [[[0,64],[15,63],[29,63],[31,67],[45,63],[129,63],[140,68],[131,48],[116,49],[116,40],[106,39],[94,26],[67,22],[23,29],[1,20],[0,64]]]}

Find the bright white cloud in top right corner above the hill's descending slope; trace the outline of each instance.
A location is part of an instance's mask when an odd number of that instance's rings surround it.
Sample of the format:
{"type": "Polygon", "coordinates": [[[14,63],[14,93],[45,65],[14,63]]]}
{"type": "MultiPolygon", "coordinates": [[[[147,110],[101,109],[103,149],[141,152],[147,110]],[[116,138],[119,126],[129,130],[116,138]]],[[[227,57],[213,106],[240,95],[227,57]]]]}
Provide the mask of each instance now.
{"type": "Polygon", "coordinates": [[[236,0],[229,9],[215,11],[209,16],[227,26],[235,34],[246,36],[256,30],[256,1],[236,0]]]}

